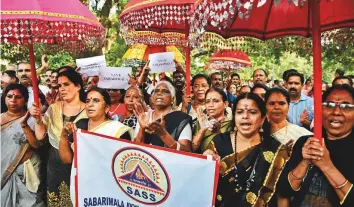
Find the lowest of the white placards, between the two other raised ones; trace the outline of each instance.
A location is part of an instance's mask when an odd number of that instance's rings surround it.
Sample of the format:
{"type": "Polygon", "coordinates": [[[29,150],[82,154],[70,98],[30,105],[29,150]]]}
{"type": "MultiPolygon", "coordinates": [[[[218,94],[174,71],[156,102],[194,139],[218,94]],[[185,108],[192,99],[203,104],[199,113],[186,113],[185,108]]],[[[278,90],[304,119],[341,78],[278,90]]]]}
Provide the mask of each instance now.
{"type": "Polygon", "coordinates": [[[112,89],[129,88],[129,74],[132,68],[128,67],[106,67],[100,69],[98,87],[112,89]]]}

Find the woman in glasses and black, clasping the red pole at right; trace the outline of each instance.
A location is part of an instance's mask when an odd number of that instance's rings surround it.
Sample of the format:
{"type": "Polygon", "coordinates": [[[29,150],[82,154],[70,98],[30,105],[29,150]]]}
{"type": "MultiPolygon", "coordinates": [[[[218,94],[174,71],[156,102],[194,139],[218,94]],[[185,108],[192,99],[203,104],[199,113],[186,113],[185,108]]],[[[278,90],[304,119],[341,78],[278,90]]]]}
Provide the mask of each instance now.
{"type": "Polygon", "coordinates": [[[323,94],[322,143],[301,137],[278,183],[291,206],[354,206],[354,91],[334,86],[323,94]]]}

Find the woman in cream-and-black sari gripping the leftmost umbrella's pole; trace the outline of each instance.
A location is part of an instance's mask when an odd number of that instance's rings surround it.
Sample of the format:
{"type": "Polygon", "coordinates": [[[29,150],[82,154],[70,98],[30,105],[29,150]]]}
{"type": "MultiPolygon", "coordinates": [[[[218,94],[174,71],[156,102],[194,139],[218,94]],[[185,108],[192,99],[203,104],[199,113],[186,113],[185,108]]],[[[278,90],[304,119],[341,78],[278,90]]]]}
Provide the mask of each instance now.
{"type": "MultiPolygon", "coordinates": [[[[36,122],[35,133],[38,140],[48,134],[50,148],[47,165],[47,200],[49,206],[71,206],[69,196],[71,164],[64,164],[59,157],[59,141],[64,126],[86,118],[86,94],[79,73],[66,70],[59,73],[59,95],[62,101],[50,105],[41,122],[36,122]]],[[[31,115],[39,117],[40,106],[33,104],[31,115]]]]}

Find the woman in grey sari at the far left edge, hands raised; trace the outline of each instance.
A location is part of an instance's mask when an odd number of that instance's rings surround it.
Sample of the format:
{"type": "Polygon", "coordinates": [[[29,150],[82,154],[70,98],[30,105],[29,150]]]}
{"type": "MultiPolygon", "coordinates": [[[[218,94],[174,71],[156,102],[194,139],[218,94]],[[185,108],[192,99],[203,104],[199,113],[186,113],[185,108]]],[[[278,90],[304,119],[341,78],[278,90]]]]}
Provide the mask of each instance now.
{"type": "Polygon", "coordinates": [[[4,95],[8,111],[1,114],[1,206],[44,206],[27,88],[9,84],[4,95]]]}

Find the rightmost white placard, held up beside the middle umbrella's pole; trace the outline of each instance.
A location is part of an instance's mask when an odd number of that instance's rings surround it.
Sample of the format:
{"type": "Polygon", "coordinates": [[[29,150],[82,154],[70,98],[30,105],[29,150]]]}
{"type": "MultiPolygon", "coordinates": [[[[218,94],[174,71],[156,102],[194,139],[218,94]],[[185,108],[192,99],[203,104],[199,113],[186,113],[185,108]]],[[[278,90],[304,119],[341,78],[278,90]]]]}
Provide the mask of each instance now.
{"type": "Polygon", "coordinates": [[[150,73],[173,72],[176,70],[173,52],[150,54],[149,60],[150,73]]]}

